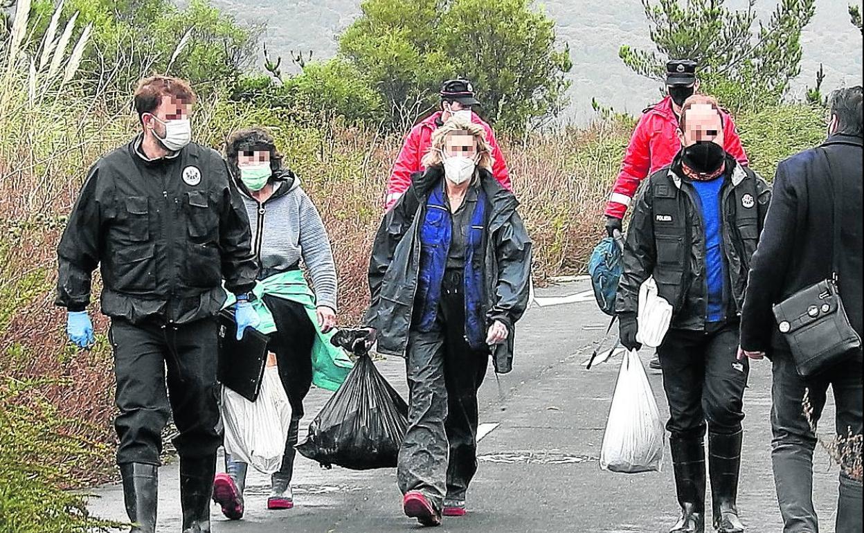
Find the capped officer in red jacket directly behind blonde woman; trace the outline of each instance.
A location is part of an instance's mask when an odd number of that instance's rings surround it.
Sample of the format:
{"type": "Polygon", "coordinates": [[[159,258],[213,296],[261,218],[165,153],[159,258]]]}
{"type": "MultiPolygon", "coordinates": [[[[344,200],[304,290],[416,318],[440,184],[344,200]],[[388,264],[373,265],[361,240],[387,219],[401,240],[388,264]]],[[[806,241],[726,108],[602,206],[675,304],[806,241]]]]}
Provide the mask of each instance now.
{"type": "Polygon", "coordinates": [[[470,81],[467,79],[449,79],[444,82],[441,88],[442,111],[435,111],[411,128],[402,149],[399,150],[399,156],[393,163],[390,179],[387,181],[385,209],[390,210],[399,200],[399,197],[408,190],[411,184],[411,174],[422,172],[425,169],[420,160],[429,150],[429,146],[432,145],[432,132],[444,124],[449,117],[460,115],[464,115],[466,118],[470,117],[471,122],[482,125],[483,129],[486,130],[486,140],[492,147],[494,160],[492,174],[507,190],[512,189],[510,172],[507,170],[507,163],[504,161],[504,155],[501,154],[498,141],[495,140],[495,134],[489,124],[483,122],[477,113],[472,111],[475,105],[479,106],[480,102],[474,98],[474,88],[470,81]]]}

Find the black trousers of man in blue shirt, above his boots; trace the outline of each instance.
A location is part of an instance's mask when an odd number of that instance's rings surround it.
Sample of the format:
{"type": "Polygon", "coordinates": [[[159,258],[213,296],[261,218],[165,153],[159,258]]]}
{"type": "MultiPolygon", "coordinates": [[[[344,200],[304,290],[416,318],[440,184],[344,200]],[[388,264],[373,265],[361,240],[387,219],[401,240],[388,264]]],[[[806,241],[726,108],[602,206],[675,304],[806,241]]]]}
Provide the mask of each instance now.
{"type": "Polygon", "coordinates": [[[738,324],[704,332],[670,329],[657,349],[669,401],[666,429],[672,438],[732,435],[744,420],[743,398],[750,366],[738,361],[738,324]]]}

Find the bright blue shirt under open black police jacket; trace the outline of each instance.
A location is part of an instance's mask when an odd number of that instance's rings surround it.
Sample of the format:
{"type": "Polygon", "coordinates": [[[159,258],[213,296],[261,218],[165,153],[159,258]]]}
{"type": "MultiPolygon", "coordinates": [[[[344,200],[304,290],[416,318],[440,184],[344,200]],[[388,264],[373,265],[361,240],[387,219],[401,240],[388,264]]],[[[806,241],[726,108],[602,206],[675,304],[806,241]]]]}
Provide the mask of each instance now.
{"type": "Polygon", "coordinates": [[[723,294],[726,284],[726,257],[723,255],[721,232],[720,189],[723,175],[711,181],[693,181],[702,209],[702,229],[705,232],[705,279],[708,282],[708,316],[706,321],[719,322],[726,318],[723,294]]]}

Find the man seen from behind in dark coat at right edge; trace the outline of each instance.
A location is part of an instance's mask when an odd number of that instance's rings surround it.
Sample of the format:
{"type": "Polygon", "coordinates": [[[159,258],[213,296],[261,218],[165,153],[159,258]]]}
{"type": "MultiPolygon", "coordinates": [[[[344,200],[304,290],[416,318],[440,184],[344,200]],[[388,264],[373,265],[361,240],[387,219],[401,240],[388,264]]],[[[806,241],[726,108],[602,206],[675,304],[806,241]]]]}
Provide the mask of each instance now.
{"type": "MultiPolygon", "coordinates": [[[[753,256],[740,357],[767,354],[772,359],[772,463],[785,533],[818,530],[812,497],[816,435],[801,406],[804,390],[810,390],[816,421],[830,385],[837,434],[860,439],[861,349],[816,377],[801,378],[775,325],[772,304],[832,276],[833,217],[838,213],[842,249],[837,282],[849,322],[861,335],[861,164],[861,86],[855,86],[832,96],[828,140],[778,165],[771,211],[753,256]]],[[[836,530],[861,531],[861,480],[852,479],[846,467],[840,473],[836,530]]]]}

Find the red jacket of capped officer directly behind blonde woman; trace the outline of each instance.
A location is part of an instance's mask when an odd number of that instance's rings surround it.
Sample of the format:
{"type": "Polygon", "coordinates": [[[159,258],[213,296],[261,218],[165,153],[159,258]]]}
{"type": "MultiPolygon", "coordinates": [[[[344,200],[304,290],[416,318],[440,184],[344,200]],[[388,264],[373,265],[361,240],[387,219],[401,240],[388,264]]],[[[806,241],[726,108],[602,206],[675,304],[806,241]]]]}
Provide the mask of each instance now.
{"type": "MultiPolygon", "coordinates": [[[[405,143],[402,149],[399,150],[399,156],[396,162],[393,163],[390,179],[387,181],[387,196],[384,200],[384,209],[390,208],[396,204],[396,200],[408,190],[411,185],[411,174],[422,172],[425,168],[420,160],[423,155],[429,151],[432,145],[432,132],[438,128],[437,121],[441,118],[442,111],[437,111],[424,118],[421,122],[411,128],[410,133],[405,138],[405,143]]],[[[504,161],[504,155],[501,154],[498,141],[495,140],[495,134],[489,124],[483,122],[477,113],[471,113],[471,121],[475,124],[480,124],[486,130],[486,141],[492,148],[492,158],[495,160],[492,163],[492,175],[503,185],[508,191],[512,190],[510,183],[510,171],[507,170],[507,163],[504,161]]]]}

